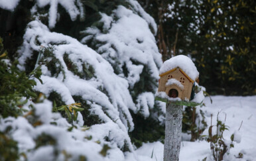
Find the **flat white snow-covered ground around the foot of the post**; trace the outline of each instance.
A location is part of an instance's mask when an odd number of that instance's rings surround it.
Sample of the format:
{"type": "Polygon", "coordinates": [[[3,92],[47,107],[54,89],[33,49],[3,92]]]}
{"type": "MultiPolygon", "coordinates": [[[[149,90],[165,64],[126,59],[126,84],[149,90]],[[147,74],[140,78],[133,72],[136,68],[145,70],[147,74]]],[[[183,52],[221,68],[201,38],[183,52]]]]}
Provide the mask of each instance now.
{"type": "MultiPolygon", "coordinates": [[[[216,117],[220,112],[220,118],[224,119],[227,114],[225,125],[229,127],[229,131],[224,132],[224,138],[229,139],[234,131],[237,131],[241,125],[239,133],[241,134],[241,142],[235,143],[231,148],[230,154],[226,155],[224,160],[256,160],[256,96],[249,97],[225,97],[213,96],[212,104],[209,97],[204,99],[206,107],[202,109],[206,113],[208,126],[211,123],[211,114],[213,115],[212,123],[215,125],[216,117]],[[243,158],[235,158],[239,152],[243,153],[243,158]]],[[[208,134],[208,129],[204,131],[208,134]]],[[[210,143],[205,140],[188,142],[182,141],[180,150],[180,161],[213,160],[210,154],[210,143]]],[[[163,144],[160,142],[146,143],[136,150],[139,160],[163,160],[163,144]],[[151,158],[152,156],[152,158],[151,158]]]]}

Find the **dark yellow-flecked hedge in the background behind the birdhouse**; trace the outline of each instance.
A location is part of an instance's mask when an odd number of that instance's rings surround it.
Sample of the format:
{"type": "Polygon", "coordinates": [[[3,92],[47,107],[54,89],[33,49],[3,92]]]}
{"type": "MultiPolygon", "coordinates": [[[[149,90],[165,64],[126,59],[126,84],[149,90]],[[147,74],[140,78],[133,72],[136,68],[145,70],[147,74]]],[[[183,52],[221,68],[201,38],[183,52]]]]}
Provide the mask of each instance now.
{"type": "Polygon", "coordinates": [[[163,60],[195,58],[200,84],[212,95],[255,95],[255,1],[139,2],[159,25],[163,60]]]}

